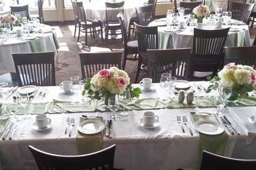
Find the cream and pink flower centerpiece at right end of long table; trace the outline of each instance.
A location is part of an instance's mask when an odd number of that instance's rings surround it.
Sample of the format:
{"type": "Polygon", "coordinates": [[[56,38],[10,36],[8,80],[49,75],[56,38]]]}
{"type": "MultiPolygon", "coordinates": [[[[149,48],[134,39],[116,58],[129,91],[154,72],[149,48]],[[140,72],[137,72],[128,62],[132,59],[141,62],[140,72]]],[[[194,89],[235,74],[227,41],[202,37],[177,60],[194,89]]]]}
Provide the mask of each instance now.
{"type": "Polygon", "coordinates": [[[256,84],[256,71],[248,65],[229,63],[218,72],[218,77],[220,86],[231,93],[227,99],[229,101],[247,97],[256,84]]]}

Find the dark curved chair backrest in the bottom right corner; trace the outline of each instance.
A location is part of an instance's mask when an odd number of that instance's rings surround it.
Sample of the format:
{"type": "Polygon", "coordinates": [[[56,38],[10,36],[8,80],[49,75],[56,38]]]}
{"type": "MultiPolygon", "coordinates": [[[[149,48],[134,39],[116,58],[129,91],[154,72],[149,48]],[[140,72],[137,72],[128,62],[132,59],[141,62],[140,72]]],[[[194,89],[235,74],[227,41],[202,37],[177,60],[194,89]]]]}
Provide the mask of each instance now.
{"type": "Polygon", "coordinates": [[[256,160],[239,160],[203,151],[201,170],[256,169],[256,160]]]}

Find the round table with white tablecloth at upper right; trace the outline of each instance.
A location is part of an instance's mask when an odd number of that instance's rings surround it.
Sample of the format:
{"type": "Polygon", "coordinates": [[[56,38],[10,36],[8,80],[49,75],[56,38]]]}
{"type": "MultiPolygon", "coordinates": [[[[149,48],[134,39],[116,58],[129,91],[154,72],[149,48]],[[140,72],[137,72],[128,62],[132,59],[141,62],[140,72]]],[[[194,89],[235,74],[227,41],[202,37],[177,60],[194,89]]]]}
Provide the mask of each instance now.
{"type": "MultiPolygon", "coordinates": [[[[194,28],[196,26],[185,26],[185,29],[176,29],[176,31],[168,31],[164,26],[166,18],[155,20],[149,26],[158,26],[159,49],[173,49],[192,47],[194,28]],[[162,26],[159,26],[162,25],[162,26]]],[[[223,25],[222,28],[231,27],[227,36],[225,46],[241,47],[250,46],[250,32],[248,25],[243,22],[232,20],[232,25],[223,25]]],[[[214,29],[213,27],[204,26],[203,29],[214,29]]]]}

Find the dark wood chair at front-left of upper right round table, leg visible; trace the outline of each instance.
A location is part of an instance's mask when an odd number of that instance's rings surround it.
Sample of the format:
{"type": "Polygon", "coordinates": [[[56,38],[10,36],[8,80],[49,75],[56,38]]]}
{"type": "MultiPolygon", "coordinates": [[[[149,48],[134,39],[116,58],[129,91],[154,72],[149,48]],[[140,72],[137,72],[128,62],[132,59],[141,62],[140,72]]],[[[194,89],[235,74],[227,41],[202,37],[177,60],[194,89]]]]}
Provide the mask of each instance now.
{"type": "Polygon", "coordinates": [[[138,37],[138,68],[135,77],[135,83],[141,71],[141,65],[147,65],[148,49],[158,49],[157,26],[141,26],[135,23],[136,34],[138,37]]]}

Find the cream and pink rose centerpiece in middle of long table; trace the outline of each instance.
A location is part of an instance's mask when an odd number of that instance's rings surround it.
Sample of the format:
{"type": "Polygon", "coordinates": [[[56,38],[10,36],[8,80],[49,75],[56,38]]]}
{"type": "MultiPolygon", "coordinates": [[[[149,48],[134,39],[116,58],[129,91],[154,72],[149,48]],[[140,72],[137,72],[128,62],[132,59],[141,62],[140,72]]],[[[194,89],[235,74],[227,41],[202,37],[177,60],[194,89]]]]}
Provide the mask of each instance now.
{"type": "Polygon", "coordinates": [[[127,88],[131,93],[131,98],[138,98],[141,94],[140,88],[133,88],[131,86],[127,72],[112,67],[100,70],[91,79],[87,79],[83,95],[87,93],[90,98],[95,98],[97,100],[104,98],[105,104],[108,105],[108,98],[112,95],[120,95],[124,93],[127,88]]]}

